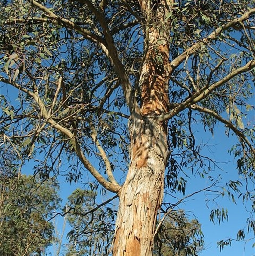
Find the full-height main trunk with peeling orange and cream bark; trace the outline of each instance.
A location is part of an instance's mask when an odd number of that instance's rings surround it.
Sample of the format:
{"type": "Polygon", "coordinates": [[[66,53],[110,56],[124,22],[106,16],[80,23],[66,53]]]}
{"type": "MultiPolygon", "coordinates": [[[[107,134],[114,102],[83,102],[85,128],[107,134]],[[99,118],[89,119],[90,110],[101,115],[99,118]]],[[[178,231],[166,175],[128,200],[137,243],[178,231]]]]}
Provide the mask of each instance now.
{"type": "MultiPolygon", "coordinates": [[[[156,27],[156,26],[155,26],[156,27]]],[[[113,256],[150,256],[168,158],[167,124],[156,115],[168,111],[169,36],[149,28],[148,51],[140,76],[140,113],[130,118],[130,166],[119,192],[113,256]]]]}

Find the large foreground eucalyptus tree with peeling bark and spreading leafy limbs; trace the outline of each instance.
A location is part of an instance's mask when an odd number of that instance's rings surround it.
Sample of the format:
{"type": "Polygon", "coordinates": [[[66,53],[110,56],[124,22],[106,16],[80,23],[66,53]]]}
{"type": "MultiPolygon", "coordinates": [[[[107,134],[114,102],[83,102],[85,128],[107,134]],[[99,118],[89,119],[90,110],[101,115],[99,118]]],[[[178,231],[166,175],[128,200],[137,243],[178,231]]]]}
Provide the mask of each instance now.
{"type": "Polygon", "coordinates": [[[181,170],[213,180],[196,121],[237,136],[230,153],[253,182],[254,13],[248,0],[2,0],[0,82],[19,101],[1,96],[1,145],[40,153],[46,177],[61,160],[69,181],[87,170],[119,197],[113,255],[152,255],[164,180],[183,193],[181,170]]]}

